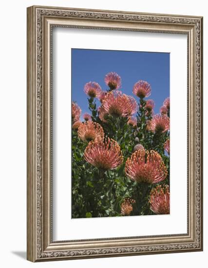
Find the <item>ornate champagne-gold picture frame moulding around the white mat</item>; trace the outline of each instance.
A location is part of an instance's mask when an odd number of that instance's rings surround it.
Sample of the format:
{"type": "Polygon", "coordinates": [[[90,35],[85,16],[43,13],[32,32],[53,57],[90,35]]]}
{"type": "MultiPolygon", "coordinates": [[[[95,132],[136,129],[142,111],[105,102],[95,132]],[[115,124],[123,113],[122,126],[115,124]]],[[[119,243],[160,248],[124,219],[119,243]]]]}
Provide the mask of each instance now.
{"type": "Polygon", "coordinates": [[[203,250],[203,18],[106,10],[27,8],[27,259],[32,262],[203,250]],[[52,27],[188,36],[188,233],[52,239],[52,27]]]}

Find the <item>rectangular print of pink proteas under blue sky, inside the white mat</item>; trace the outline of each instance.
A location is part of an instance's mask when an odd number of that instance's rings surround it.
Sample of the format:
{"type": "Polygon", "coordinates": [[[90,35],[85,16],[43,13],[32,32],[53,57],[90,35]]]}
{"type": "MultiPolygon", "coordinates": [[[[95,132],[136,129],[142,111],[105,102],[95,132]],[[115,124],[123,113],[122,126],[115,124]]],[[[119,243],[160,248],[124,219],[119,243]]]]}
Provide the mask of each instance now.
{"type": "Polygon", "coordinates": [[[170,54],[72,49],[72,218],[170,214],[170,54]]]}

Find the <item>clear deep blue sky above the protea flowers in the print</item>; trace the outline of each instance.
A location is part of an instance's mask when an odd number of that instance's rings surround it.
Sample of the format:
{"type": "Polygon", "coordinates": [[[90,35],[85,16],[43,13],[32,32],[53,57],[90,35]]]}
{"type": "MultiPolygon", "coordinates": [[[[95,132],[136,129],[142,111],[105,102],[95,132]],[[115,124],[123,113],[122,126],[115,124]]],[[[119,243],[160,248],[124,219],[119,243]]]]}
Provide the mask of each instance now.
{"type": "MultiPolygon", "coordinates": [[[[149,82],[151,96],[145,99],[154,100],[155,114],[170,96],[169,53],[72,49],[72,100],[80,106],[82,114],[90,112],[83,91],[85,83],[95,81],[102,90],[107,90],[104,77],[109,72],[121,77],[121,91],[127,95],[134,96],[132,87],[138,80],[149,82]]],[[[134,97],[138,102],[139,98],[134,97]]],[[[97,105],[100,105],[99,100],[97,105]]]]}

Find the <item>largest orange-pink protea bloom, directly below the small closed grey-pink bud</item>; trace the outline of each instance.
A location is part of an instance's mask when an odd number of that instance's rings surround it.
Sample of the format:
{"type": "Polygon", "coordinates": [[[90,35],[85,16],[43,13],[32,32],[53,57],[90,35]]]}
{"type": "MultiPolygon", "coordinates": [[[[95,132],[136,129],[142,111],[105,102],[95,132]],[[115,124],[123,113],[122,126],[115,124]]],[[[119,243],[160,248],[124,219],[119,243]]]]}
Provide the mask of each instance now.
{"type": "Polygon", "coordinates": [[[159,153],[139,149],[129,157],[125,165],[126,175],[136,181],[157,183],[167,177],[167,168],[159,153]]]}

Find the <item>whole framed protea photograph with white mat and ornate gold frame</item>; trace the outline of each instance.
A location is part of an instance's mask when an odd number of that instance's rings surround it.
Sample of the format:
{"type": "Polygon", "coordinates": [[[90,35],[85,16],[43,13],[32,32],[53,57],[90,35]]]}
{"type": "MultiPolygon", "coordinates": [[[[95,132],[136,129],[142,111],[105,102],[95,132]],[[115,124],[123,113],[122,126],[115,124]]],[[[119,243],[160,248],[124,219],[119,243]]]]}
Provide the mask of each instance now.
{"type": "Polygon", "coordinates": [[[27,9],[27,259],[203,250],[203,18],[27,9]]]}

